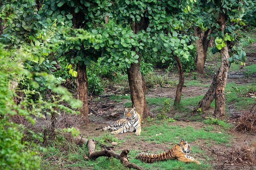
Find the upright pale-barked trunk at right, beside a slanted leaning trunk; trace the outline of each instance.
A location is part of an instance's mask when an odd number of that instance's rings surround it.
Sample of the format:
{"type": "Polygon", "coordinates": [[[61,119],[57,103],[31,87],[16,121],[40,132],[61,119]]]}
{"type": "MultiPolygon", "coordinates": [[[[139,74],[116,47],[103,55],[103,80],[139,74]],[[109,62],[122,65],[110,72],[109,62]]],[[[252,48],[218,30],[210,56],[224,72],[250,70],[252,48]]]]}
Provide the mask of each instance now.
{"type": "MultiPolygon", "coordinates": [[[[221,13],[222,9],[220,8],[219,17],[217,18],[217,23],[220,25],[220,30],[225,35],[225,16],[221,13]]],[[[224,40],[224,37],[223,37],[224,40]]],[[[220,61],[220,74],[216,80],[216,89],[215,89],[215,110],[214,110],[214,117],[218,117],[220,119],[225,118],[225,87],[227,83],[227,76],[228,76],[228,47],[227,43],[225,42],[226,46],[220,50],[221,61],[220,61]]]]}

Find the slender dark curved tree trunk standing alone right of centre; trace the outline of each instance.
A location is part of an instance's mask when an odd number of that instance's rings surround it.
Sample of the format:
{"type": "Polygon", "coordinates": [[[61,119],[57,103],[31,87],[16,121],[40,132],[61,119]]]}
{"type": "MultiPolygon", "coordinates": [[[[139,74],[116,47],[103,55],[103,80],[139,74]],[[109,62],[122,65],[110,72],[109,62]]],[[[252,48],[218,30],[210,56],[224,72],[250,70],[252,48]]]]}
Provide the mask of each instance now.
{"type": "Polygon", "coordinates": [[[182,87],[184,85],[184,73],[183,73],[183,68],[182,68],[182,64],[180,61],[180,58],[177,55],[174,55],[175,60],[177,61],[177,67],[178,67],[178,71],[179,71],[179,83],[177,85],[177,89],[176,89],[176,95],[175,95],[175,100],[174,100],[174,105],[180,104],[180,99],[181,99],[181,92],[182,92],[182,87]]]}

